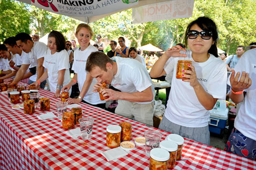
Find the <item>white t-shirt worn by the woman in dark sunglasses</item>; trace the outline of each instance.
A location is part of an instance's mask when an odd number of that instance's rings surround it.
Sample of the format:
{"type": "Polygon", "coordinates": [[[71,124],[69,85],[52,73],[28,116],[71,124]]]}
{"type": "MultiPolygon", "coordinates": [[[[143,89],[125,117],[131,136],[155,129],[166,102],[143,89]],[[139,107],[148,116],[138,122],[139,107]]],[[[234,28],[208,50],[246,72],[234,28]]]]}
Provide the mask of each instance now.
{"type": "Polygon", "coordinates": [[[197,95],[188,82],[176,79],[178,60],[191,60],[195,67],[197,79],[204,90],[216,99],[226,98],[227,67],[219,58],[210,54],[207,61],[195,62],[187,50],[187,57],[171,57],[164,67],[168,75],[173,71],[172,88],[165,110],[165,117],[171,122],[192,128],[205,127],[209,122],[209,111],[199,102],[197,95]]]}

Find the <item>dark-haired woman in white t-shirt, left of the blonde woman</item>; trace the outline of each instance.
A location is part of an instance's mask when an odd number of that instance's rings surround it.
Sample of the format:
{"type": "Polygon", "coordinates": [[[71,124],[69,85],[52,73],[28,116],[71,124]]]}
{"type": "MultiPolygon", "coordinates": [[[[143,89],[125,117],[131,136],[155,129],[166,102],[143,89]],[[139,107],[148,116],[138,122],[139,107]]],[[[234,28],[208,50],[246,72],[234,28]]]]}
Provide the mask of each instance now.
{"type": "MultiPolygon", "coordinates": [[[[59,98],[63,85],[67,85],[70,81],[69,54],[65,49],[66,40],[60,32],[52,31],[48,35],[47,46],[48,50],[43,64],[46,71],[33,84],[37,87],[40,82],[48,78],[54,98],[59,98]]],[[[71,89],[69,94],[71,94],[71,89]]]]}

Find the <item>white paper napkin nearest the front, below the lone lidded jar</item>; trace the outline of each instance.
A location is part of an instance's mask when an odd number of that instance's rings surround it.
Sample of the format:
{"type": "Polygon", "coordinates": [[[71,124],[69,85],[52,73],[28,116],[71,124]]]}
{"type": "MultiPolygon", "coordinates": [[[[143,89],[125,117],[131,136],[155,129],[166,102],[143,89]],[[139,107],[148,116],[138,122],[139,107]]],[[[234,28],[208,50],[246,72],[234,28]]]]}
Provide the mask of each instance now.
{"type": "Polygon", "coordinates": [[[106,160],[108,160],[108,161],[118,159],[118,158],[128,155],[128,153],[125,152],[124,150],[122,150],[120,147],[110,149],[105,152],[101,152],[100,154],[103,155],[106,158],[106,160]]]}

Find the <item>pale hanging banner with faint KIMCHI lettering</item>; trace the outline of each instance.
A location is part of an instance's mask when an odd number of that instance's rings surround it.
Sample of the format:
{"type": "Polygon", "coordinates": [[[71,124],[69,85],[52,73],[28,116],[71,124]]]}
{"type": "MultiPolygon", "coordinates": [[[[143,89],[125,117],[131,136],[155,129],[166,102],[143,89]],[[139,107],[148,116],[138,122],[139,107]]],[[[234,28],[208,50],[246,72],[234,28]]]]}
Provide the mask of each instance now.
{"type": "Polygon", "coordinates": [[[194,0],[174,0],[133,8],[133,23],[188,18],[193,14],[194,0]]]}

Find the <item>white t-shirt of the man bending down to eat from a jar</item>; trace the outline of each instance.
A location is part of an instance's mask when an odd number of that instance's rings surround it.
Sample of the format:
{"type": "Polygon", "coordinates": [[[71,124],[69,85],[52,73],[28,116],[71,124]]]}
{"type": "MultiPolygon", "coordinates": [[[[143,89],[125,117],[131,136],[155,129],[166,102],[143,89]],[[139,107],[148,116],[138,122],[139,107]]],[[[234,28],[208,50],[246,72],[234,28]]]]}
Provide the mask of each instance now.
{"type": "MultiPolygon", "coordinates": [[[[130,58],[112,57],[117,64],[117,73],[114,76],[111,85],[122,92],[134,93],[141,92],[148,87],[151,87],[153,92],[153,100],[155,98],[155,89],[151,81],[150,75],[146,68],[139,62],[130,58]]],[[[136,102],[147,104],[150,102],[136,102]]]]}

